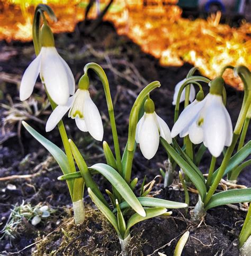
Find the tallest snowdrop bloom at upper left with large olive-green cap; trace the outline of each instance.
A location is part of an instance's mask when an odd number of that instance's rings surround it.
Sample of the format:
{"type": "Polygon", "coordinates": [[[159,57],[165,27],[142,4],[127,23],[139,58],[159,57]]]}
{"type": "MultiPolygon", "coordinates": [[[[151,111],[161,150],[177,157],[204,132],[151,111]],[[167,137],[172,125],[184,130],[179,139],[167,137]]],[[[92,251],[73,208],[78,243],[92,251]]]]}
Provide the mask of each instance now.
{"type": "Polygon", "coordinates": [[[39,55],[25,70],[20,85],[20,100],[31,96],[35,81],[40,74],[42,82],[52,100],[58,105],[65,105],[70,95],[74,94],[75,81],[67,63],[58,54],[53,34],[48,25],[41,30],[42,48],[39,55]]]}

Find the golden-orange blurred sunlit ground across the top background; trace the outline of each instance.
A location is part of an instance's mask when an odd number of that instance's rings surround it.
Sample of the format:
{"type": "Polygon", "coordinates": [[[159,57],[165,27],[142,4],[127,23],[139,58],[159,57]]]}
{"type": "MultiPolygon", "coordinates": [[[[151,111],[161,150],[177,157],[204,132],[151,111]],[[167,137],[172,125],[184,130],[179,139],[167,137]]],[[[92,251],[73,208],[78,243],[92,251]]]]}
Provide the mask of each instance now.
{"type": "MultiPolygon", "coordinates": [[[[74,31],[84,19],[88,0],[9,0],[0,1],[0,40],[32,39],[32,15],[39,3],[49,4],[58,17],[52,23],[53,32],[74,31]]],[[[101,0],[101,8],[109,0],[101,0]]],[[[239,28],[220,24],[218,12],[208,20],[189,20],[181,17],[176,0],[114,0],[104,20],[111,21],[120,35],[127,35],[142,50],[159,58],[162,65],[181,66],[189,62],[213,79],[225,65],[246,65],[251,69],[251,24],[243,22],[239,28]],[[144,5],[144,2],[153,4],[144,5]]],[[[96,18],[96,6],[89,18],[96,18]]],[[[239,78],[231,70],[224,73],[226,83],[243,89],[239,78]]]]}

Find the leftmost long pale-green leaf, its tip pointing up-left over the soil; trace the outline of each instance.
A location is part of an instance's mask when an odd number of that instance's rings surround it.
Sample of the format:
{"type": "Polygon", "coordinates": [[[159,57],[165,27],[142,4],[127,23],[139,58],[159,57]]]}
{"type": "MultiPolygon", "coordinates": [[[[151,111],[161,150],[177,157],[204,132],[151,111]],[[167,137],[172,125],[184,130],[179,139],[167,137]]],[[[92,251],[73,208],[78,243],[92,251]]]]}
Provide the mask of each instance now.
{"type": "MultiPolygon", "coordinates": [[[[44,138],[44,136],[42,136],[40,133],[35,131],[28,123],[22,121],[22,125],[38,142],[43,145],[44,148],[46,148],[51,153],[51,155],[55,158],[58,165],[60,166],[62,173],[64,173],[64,175],[69,174],[70,166],[65,153],[58,146],[56,146],[51,141],[44,138]]],[[[72,192],[74,184],[73,181],[67,181],[67,183],[69,186],[69,190],[72,192]]]]}

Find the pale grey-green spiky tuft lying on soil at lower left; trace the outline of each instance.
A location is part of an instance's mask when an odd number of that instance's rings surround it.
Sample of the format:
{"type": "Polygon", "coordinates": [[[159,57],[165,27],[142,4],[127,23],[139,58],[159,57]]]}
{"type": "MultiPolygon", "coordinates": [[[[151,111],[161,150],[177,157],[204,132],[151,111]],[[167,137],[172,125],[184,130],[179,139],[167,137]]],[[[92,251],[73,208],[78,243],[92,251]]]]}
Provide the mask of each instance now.
{"type": "Polygon", "coordinates": [[[47,205],[42,205],[42,203],[36,206],[31,206],[30,203],[25,204],[24,201],[11,209],[11,214],[8,217],[7,223],[2,229],[1,233],[3,237],[15,238],[22,231],[23,224],[28,221],[33,226],[38,225],[44,219],[47,219],[51,214],[55,213],[57,210],[52,209],[47,205]]]}

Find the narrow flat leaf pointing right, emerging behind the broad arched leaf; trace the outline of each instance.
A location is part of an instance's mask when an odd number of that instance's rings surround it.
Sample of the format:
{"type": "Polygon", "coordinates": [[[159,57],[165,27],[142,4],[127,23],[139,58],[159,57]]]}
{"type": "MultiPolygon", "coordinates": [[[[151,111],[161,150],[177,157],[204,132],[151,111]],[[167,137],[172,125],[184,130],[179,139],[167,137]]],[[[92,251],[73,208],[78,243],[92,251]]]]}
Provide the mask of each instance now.
{"type": "MultiPolygon", "coordinates": [[[[144,207],[164,207],[167,209],[180,209],[187,207],[186,203],[168,201],[160,198],[140,197],[138,198],[138,200],[144,207]]],[[[127,207],[129,207],[129,204],[127,202],[122,202],[120,204],[120,209],[124,209],[127,207]]],[[[115,211],[116,209],[113,210],[113,212],[115,211]]]]}

